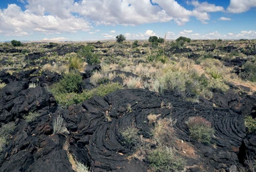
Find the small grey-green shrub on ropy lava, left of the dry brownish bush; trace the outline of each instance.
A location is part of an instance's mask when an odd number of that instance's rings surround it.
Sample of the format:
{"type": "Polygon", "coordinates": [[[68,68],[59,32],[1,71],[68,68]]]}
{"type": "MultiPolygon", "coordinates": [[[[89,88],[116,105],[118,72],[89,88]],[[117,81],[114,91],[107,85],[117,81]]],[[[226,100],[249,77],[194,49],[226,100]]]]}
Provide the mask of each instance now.
{"type": "Polygon", "coordinates": [[[123,145],[129,149],[136,149],[139,143],[138,129],[131,126],[119,131],[123,138],[123,145]]]}

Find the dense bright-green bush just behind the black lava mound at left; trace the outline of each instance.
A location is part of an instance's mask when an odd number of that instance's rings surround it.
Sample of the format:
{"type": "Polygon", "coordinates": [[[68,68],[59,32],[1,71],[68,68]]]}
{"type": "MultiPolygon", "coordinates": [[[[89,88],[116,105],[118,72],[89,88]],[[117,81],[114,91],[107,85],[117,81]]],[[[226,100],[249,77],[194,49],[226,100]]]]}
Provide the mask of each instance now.
{"type": "Polygon", "coordinates": [[[72,70],[68,74],[64,74],[64,77],[60,82],[52,85],[53,94],[62,94],[70,92],[79,92],[82,83],[82,76],[72,70]]]}

